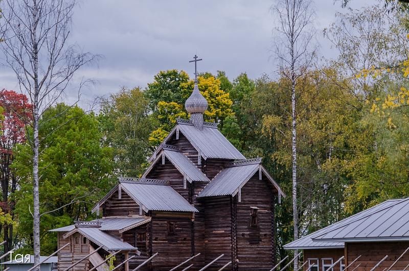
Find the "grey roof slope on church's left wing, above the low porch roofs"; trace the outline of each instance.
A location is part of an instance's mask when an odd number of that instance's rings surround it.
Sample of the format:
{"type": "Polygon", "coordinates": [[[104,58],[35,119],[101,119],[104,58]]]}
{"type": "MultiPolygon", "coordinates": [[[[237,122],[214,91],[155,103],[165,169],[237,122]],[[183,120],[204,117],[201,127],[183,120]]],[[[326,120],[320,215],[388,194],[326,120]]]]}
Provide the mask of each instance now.
{"type": "Polygon", "coordinates": [[[122,189],[145,211],[198,212],[171,186],[155,182],[121,181],[122,189]]]}

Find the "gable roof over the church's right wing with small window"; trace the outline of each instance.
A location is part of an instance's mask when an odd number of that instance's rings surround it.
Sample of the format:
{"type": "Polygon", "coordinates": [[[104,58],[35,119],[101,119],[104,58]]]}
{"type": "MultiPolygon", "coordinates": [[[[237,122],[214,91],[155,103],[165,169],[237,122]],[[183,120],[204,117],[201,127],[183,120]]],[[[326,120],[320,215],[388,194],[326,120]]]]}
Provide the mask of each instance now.
{"type": "Polygon", "coordinates": [[[235,161],[231,167],[221,170],[197,197],[234,196],[259,170],[267,176],[280,197],[285,196],[278,184],[261,165],[261,159],[258,158],[235,161]]]}

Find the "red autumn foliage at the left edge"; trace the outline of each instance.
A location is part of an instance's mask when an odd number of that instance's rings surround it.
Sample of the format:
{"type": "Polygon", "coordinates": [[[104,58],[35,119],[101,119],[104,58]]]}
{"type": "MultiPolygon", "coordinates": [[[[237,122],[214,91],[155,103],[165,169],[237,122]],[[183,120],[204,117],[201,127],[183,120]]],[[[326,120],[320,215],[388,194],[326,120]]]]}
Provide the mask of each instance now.
{"type": "Polygon", "coordinates": [[[4,110],[4,119],[0,120],[0,153],[12,154],[17,143],[26,141],[25,126],[32,122],[32,105],[26,95],[3,89],[0,106],[4,110]]]}

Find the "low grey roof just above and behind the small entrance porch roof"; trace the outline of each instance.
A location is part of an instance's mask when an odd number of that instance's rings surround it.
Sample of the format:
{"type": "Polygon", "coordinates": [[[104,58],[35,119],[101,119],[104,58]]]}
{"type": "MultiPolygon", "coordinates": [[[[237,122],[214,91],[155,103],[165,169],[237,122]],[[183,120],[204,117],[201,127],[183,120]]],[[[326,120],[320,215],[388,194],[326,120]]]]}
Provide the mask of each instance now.
{"type": "Polygon", "coordinates": [[[149,222],[152,218],[147,216],[134,216],[134,217],[126,217],[126,216],[115,216],[115,217],[103,217],[100,219],[95,219],[93,221],[102,222],[100,231],[119,231],[120,233],[126,232],[130,229],[139,227],[147,222],[149,222]]]}

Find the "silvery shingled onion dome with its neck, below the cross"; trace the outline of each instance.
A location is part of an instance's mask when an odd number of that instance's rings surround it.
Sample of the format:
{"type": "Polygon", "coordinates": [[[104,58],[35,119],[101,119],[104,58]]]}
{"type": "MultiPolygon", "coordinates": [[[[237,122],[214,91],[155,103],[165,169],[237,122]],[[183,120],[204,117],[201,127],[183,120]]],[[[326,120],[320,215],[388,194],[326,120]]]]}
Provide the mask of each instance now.
{"type": "Polygon", "coordinates": [[[208,101],[199,92],[197,80],[195,80],[195,87],[192,95],[185,102],[186,111],[190,113],[190,120],[193,125],[199,129],[203,129],[203,113],[208,109],[208,101]]]}

